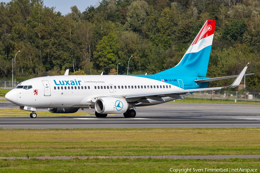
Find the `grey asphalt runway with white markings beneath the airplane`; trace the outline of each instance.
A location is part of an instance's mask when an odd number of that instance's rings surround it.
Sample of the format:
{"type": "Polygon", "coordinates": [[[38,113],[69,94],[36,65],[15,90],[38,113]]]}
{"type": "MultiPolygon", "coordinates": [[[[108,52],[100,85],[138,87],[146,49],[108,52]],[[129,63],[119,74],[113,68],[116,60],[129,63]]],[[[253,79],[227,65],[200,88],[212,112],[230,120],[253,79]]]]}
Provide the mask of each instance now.
{"type": "MultiPolygon", "coordinates": [[[[14,109],[18,106],[1,101],[0,108],[14,109]]],[[[17,109],[18,110],[18,109],[17,109]]],[[[86,116],[37,116],[0,117],[0,127],[4,129],[44,129],[44,128],[254,128],[260,127],[260,105],[236,104],[179,104],[165,103],[147,107],[137,107],[135,118],[124,118],[123,114],[109,114],[106,118],[96,118],[93,109],[79,110],[86,116]]],[[[47,109],[37,109],[47,111],[47,109]]]]}

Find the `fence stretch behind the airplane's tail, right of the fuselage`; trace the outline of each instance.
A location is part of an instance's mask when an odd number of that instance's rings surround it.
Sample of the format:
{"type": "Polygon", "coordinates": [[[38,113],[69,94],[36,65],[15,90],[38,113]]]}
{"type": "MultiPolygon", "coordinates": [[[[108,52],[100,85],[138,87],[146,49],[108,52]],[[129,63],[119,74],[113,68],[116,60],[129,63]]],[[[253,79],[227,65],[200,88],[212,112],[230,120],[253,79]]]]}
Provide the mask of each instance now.
{"type": "Polygon", "coordinates": [[[196,98],[196,99],[214,99],[214,100],[233,100],[233,101],[260,101],[260,93],[253,92],[239,92],[239,91],[220,91],[220,90],[209,90],[199,91],[185,98],[196,98]]]}

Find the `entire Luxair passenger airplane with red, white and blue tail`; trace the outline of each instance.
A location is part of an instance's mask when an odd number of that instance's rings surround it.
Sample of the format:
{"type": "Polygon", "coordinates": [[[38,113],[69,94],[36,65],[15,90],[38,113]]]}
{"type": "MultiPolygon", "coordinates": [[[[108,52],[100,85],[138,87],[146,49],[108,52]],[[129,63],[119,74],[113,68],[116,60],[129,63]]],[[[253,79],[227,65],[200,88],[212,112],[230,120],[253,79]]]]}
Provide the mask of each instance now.
{"type": "MultiPolygon", "coordinates": [[[[75,113],[80,108],[94,108],[96,117],[121,114],[134,118],[134,108],[183,99],[196,91],[237,87],[247,67],[237,76],[206,77],[216,20],[207,20],[184,54],[181,61],[153,75],[68,75],[46,76],[19,83],[5,98],[31,111],[36,118],[37,108],[52,113],[75,113]],[[234,78],[227,87],[206,88],[210,81],[234,78]]],[[[250,75],[250,74],[246,74],[250,75]]]]}

